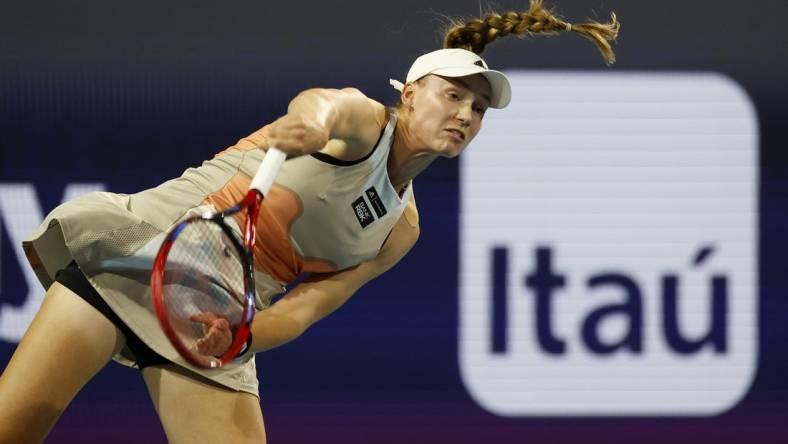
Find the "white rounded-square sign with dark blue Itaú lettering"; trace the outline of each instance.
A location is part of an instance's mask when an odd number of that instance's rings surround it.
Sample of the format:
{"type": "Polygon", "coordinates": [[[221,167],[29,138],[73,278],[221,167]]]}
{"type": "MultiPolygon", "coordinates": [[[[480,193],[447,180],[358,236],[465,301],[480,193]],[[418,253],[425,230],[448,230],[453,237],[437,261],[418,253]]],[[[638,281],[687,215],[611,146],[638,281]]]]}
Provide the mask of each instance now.
{"type": "Polygon", "coordinates": [[[461,158],[459,363],[502,416],[714,415],[758,350],[758,123],[721,75],[527,72],[461,158]]]}

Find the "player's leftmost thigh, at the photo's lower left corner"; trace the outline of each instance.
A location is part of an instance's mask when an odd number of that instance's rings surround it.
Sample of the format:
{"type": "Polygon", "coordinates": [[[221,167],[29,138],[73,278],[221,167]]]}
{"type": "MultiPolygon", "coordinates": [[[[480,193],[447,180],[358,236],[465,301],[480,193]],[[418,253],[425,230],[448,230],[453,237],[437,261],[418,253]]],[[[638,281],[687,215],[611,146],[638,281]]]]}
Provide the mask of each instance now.
{"type": "Polygon", "coordinates": [[[123,346],[104,315],[55,282],[0,376],[0,442],[38,442],[123,346]]]}

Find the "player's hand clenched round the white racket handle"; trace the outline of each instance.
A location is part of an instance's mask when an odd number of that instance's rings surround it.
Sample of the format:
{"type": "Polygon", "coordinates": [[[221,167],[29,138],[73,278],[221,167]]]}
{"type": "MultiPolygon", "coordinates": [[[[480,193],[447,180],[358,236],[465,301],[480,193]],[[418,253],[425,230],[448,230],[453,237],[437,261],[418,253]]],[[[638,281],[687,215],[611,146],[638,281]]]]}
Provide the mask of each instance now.
{"type": "Polygon", "coordinates": [[[261,149],[274,147],[292,157],[312,154],[328,143],[329,131],[302,115],[286,114],[268,127],[261,149]]]}

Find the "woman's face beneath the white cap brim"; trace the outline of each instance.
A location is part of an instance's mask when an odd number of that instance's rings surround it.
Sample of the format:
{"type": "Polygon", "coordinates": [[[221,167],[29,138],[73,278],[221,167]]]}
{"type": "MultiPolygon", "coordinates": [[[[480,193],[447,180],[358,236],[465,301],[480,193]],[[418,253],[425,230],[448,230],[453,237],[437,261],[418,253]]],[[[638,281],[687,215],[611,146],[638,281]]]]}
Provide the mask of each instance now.
{"type": "Polygon", "coordinates": [[[479,132],[490,95],[490,83],[481,74],[424,77],[413,85],[412,95],[406,95],[414,142],[425,153],[459,155],[479,132]]]}

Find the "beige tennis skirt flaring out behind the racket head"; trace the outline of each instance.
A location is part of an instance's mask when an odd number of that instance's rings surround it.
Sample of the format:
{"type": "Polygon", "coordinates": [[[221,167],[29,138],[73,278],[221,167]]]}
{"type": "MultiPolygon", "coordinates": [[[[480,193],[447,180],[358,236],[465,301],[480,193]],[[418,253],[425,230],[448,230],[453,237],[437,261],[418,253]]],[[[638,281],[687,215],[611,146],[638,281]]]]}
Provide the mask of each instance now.
{"type": "MultiPolygon", "coordinates": [[[[153,258],[169,227],[212,208],[200,206],[200,196],[194,196],[168,211],[149,211],[143,220],[132,208],[144,207],[148,197],[94,192],[60,205],[23,241],[30,265],[49,288],[55,273],[76,261],[112,310],[156,353],[224,387],[259,396],[254,357],[232,367],[198,369],[180,357],[161,330],[151,304],[153,258]]],[[[282,283],[260,272],[255,279],[257,308],[264,309],[283,291],[282,283]]],[[[135,366],[125,347],[113,359],[135,366]]]]}

